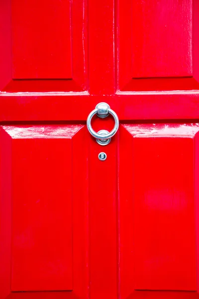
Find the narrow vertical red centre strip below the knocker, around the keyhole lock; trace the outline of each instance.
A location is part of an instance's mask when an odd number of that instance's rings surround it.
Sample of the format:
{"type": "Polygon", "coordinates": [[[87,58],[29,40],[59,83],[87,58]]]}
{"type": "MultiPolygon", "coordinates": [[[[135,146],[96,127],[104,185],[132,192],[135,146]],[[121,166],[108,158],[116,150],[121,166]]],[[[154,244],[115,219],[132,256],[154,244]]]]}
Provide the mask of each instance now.
{"type": "Polygon", "coordinates": [[[90,298],[117,298],[117,139],[100,146],[88,137],[90,298]],[[98,157],[105,152],[106,160],[98,157]]]}

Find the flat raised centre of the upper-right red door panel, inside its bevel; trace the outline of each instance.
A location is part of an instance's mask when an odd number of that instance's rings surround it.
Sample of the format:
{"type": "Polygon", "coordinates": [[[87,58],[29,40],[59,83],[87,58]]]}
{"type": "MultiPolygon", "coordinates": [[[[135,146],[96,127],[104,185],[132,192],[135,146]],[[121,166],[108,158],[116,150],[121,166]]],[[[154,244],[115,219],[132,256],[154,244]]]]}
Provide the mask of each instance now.
{"type": "Polygon", "coordinates": [[[133,78],[192,76],[192,0],[132,1],[133,78]]]}

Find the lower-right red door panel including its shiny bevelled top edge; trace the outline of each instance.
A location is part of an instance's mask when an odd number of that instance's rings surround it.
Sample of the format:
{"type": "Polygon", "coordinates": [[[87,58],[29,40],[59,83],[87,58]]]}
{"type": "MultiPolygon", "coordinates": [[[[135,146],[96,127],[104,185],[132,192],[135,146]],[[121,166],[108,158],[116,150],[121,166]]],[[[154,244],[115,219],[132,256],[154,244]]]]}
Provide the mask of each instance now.
{"type": "MultiPolygon", "coordinates": [[[[120,184],[122,292],[195,291],[194,138],[199,126],[123,128],[128,135],[122,139],[120,155],[130,148],[130,179],[123,178],[120,184]]],[[[124,161],[121,157],[121,170],[124,161]]]]}

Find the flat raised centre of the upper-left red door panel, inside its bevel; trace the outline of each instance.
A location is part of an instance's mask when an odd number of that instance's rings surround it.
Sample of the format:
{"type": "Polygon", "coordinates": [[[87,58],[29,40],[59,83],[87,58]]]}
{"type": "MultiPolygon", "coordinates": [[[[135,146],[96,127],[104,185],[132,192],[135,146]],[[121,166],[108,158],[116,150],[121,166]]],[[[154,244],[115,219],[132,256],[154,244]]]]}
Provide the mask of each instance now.
{"type": "Polygon", "coordinates": [[[12,0],[13,79],[72,78],[70,6],[12,0]]]}

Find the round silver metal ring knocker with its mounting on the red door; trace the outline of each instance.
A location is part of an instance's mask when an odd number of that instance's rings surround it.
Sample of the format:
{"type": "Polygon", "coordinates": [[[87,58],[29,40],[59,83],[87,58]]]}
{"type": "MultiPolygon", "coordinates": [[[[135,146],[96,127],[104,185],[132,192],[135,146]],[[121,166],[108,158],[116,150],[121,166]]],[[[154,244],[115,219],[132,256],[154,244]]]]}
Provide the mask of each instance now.
{"type": "Polygon", "coordinates": [[[111,137],[113,137],[115,135],[115,133],[117,132],[117,130],[119,128],[119,119],[118,119],[116,113],[110,109],[110,106],[108,104],[99,103],[96,106],[96,109],[94,109],[88,116],[87,128],[88,128],[89,132],[91,133],[91,135],[96,138],[96,141],[101,146],[105,146],[105,145],[109,144],[111,137]],[[98,133],[96,131],[94,131],[91,126],[91,120],[95,114],[97,114],[100,118],[105,118],[109,114],[111,114],[115,121],[115,125],[114,125],[114,128],[112,129],[112,131],[108,132],[106,130],[100,130],[98,133]]]}

